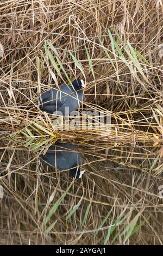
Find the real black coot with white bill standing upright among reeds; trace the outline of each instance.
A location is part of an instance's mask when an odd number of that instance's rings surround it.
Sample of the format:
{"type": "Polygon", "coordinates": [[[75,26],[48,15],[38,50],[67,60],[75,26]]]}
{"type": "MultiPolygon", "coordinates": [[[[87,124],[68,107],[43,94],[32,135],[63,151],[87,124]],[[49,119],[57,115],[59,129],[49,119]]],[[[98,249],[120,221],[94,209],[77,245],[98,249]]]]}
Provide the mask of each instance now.
{"type": "Polygon", "coordinates": [[[84,81],[77,78],[72,82],[72,86],[66,84],[60,88],[53,88],[43,93],[39,100],[39,105],[42,111],[53,114],[60,111],[67,116],[72,111],[76,111],[83,99],[83,88],[85,88],[84,81]],[[65,111],[65,107],[69,107],[69,112],[65,111]]]}

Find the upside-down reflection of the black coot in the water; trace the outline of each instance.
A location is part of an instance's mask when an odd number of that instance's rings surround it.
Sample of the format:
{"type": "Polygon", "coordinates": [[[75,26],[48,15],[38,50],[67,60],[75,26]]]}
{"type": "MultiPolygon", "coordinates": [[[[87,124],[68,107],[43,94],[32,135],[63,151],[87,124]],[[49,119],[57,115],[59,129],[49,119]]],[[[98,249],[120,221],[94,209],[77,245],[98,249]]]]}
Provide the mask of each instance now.
{"type": "Polygon", "coordinates": [[[44,164],[58,170],[70,170],[70,176],[81,178],[85,170],[81,169],[82,155],[77,148],[68,143],[57,143],[49,147],[45,155],[40,155],[44,164]]]}

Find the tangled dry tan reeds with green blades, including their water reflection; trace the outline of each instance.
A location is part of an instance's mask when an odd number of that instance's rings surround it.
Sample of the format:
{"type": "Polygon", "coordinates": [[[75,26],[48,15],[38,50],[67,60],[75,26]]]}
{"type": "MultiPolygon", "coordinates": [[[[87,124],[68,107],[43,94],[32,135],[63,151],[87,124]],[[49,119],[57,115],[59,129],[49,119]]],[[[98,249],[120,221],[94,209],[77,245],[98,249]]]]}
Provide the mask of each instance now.
{"type": "Polygon", "coordinates": [[[1,244],[162,245],[162,11],[161,0],[0,1],[1,244]],[[55,131],[40,111],[40,93],[74,77],[84,109],[110,112],[110,132],[55,131]],[[82,181],[41,165],[60,138],[82,152],[82,181]]]}

